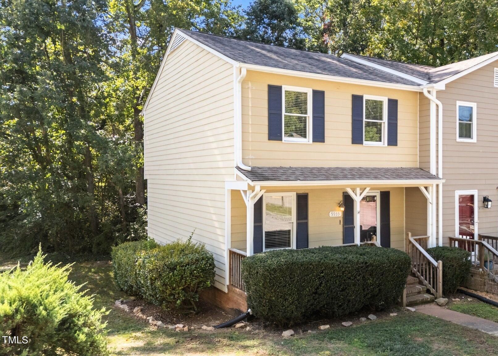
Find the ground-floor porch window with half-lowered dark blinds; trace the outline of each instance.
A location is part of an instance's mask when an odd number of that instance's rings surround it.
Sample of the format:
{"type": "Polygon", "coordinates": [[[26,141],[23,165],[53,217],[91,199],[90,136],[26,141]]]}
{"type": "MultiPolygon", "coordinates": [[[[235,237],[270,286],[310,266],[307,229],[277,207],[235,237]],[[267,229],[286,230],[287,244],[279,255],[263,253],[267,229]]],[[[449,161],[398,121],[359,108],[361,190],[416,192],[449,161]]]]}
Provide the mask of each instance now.
{"type": "Polygon", "coordinates": [[[294,248],[296,193],[263,194],[263,251],[294,248]]]}

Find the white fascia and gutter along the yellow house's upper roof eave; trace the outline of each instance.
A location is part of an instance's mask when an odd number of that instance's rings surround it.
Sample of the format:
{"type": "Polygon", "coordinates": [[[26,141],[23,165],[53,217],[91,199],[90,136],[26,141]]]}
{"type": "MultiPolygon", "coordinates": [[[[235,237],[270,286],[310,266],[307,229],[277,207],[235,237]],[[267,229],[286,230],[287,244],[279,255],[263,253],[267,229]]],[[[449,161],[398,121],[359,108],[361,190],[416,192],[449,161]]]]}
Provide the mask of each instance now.
{"type": "Polygon", "coordinates": [[[290,76],[309,78],[309,79],[328,80],[331,82],[368,85],[380,88],[390,88],[390,89],[400,89],[400,90],[420,91],[420,92],[422,91],[422,89],[419,86],[414,86],[414,85],[383,83],[383,82],[376,82],[373,80],[363,80],[363,79],[346,78],[346,77],[339,77],[327,74],[301,72],[297,70],[273,68],[273,67],[248,64],[248,63],[240,63],[240,66],[242,68],[246,68],[249,70],[257,70],[265,73],[283,74],[283,75],[290,75],[290,76]]]}

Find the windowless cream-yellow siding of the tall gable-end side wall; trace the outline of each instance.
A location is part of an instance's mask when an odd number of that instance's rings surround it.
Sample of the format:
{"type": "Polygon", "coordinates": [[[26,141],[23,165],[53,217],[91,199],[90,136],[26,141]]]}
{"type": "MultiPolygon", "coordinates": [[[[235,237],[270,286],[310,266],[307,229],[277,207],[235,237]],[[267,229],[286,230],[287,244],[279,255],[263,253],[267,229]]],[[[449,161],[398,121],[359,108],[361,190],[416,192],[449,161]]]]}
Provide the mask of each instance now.
{"type": "Polygon", "coordinates": [[[233,66],[185,40],[171,52],[144,113],[148,233],[206,244],[225,289],[225,180],[234,177],[233,66]]]}

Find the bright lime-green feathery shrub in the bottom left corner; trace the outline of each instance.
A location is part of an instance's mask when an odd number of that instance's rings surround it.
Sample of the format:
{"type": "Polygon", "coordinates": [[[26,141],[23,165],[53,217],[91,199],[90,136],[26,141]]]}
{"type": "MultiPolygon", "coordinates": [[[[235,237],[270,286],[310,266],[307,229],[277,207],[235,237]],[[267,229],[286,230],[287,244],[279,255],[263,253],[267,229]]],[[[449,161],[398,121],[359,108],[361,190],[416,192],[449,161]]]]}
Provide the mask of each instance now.
{"type": "Polygon", "coordinates": [[[68,281],[70,266],[44,264],[41,250],[25,271],[0,274],[0,335],[26,338],[3,344],[0,355],[107,355],[105,310],[68,281]]]}

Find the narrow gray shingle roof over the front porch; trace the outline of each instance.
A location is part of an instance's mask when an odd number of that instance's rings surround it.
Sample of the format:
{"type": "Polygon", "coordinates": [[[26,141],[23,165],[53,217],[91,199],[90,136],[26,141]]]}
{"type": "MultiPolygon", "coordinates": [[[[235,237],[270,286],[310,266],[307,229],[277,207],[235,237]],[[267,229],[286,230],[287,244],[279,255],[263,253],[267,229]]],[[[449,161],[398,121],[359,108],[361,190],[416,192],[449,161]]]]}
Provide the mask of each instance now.
{"type": "Polygon", "coordinates": [[[237,169],[251,181],[440,179],[421,168],[251,167],[250,171],[237,169]]]}

